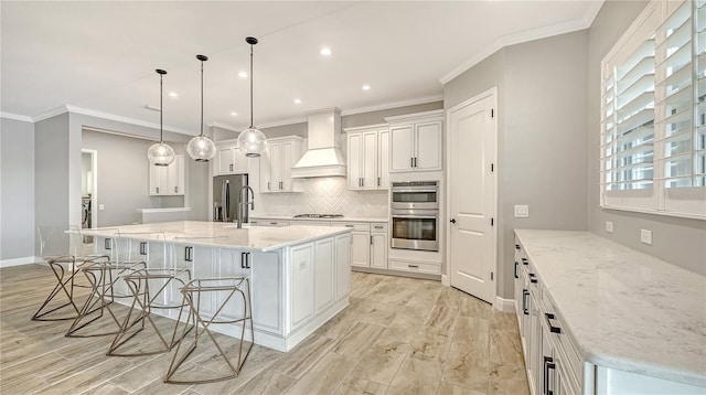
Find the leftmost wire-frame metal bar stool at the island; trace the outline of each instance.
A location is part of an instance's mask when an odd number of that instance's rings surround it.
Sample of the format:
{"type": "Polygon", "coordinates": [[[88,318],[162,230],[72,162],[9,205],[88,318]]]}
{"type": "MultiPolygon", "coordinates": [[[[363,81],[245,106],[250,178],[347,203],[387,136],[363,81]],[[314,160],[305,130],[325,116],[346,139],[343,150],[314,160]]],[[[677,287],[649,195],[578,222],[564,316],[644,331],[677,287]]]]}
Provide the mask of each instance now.
{"type": "MultiPolygon", "coordinates": [[[[83,265],[89,263],[96,263],[98,260],[107,259],[107,256],[99,255],[85,255],[83,253],[83,236],[78,226],[72,226],[69,233],[69,248],[67,255],[44,255],[46,249],[46,239],[44,238],[45,232],[42,232],[40,227],[36,228],[36,235],[40,241],[40,255],[42,259],[49,264],[54,277],[56,278],[56,285],[49,292],[44,302],[40,306],[36,312],[32,316],[33,321],[63,321],[75,320],[78,317],[81,309],[76,306],[74,291],[76,288],[90,289],[89,284],[79,284],[76,279],[76,275],[79,273],[79,268],[83,265]],[[64,301],[60,299],[64,298],[64,301]],[[55,306],[58,302],[61,305],[55,306]],[[62,309],[69,308],[68,316],[55,317],[52,313],[62,309]]],[[[64,233],[62,232],[62,235],[64,233]]]]}

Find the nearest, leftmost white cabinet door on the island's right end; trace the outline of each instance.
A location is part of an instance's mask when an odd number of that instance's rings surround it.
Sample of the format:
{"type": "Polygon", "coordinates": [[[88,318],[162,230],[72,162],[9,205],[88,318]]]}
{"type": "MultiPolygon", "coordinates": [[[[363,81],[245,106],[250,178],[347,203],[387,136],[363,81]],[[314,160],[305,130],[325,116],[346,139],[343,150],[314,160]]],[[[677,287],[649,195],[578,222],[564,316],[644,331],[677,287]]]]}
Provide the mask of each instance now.
{"type": "Polygon", "coordinates": [[[313,244],[291,248],[291,330],[313,317],[313,244]]]}

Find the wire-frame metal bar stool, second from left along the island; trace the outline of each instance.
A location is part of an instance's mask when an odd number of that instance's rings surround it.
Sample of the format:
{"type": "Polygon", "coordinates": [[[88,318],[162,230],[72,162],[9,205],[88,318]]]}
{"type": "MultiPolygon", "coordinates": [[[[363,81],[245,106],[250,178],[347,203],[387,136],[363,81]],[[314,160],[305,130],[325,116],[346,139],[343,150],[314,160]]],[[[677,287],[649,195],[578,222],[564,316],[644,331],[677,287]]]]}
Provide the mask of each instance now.
{"type": "MultiPolygon", "coordinates": [[[[105,231],[105,229],[104,229],[105,231]]],[[[92,261],[81,267],[81,271],[90,282],[92,291],[82,307],[78,316],[66,331],[67,338],[93,338],[118,334],[122,329],[124,319],[118,317],[113,303],[116,299],[133,298],[128,291],[124,277],[138,269],[146,269],[146,261],[132,260],[127,242],[116,229],[116,243],[111,248],[108,260],[92,261]],[[125,246],[125,248],[124,248],[125,246]],[[113,330],[86,331],[85,329],[101,319],[105,313],[109,318],[108,325],[114,325],[113,330]]],[[[129,305],[130,301],[125,305],[129,305]]],[[[127,308],[127,306],[126,306],[127,308]]]]}

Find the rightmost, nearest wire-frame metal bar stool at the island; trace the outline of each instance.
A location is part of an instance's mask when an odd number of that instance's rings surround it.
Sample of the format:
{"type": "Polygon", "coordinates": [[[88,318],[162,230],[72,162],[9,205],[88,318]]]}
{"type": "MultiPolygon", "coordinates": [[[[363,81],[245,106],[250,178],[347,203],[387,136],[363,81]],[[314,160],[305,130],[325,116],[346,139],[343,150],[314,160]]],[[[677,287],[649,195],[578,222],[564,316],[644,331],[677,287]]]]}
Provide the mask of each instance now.
{"type": "Polygon", "coordinates": [[[191,343],[185,345],[186,331],[184,328],[181,342],[176,345],[174,356],[167,371],[164,383],[200,384],[237,377],[243,367],[243,363],[245,363],[253,348],[253,340],[255,339],[249,279],[247,277],[194,279],[186,284],[186,286],[181,289],[181,292],[189,305],[189,320],[195,322],[194,335],[191,343]],[[211,311],[204,311],[204,307],[207,307],[207,305],[204,306],[205,303],[212,303],[211,306],[213,308],[211,311]],[[212,324],[232,324],[236,331],[239,332],[240,341],[237,349],[237,361],[235,361],[235,359],[232,361],[232,357],[228,357],[224,349],[218,344],[216,338],[210,330],[212,324]],[[245,340],[246,328],[248,328],[250,342],[246,346],[246,350],[244,350],[244,345],[247,342],[245,340]],[[207,334],[207,338],[211,339],[215,345],[218,351],[218,356],[223,359],[227,365],[227,373],[199,380],[175,378],[174,375],[179,371],[179,367],[196,349],[199,340],[203,334],[207,334]],[[182,345],[184,345],[185,349],[183,351],[181,350],[182,345]]]}

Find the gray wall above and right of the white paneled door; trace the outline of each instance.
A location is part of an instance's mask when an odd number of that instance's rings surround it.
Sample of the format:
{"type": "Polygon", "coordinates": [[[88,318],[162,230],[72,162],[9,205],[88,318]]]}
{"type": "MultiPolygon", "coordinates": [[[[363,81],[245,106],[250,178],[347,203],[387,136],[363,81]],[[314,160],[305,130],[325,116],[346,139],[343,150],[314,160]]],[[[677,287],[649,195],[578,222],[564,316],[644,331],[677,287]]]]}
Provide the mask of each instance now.
{"type": "Polygon", "coordinates": [[[587,32],[500,50],[445,85],[445,107],[498,86],[498,295],[513,295],[515,228],[586,229],[587,32]],[[515,218],[515,204],[530,217],[515,218]]]}

